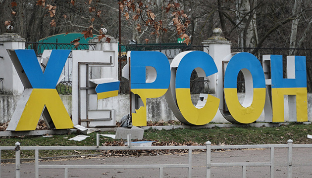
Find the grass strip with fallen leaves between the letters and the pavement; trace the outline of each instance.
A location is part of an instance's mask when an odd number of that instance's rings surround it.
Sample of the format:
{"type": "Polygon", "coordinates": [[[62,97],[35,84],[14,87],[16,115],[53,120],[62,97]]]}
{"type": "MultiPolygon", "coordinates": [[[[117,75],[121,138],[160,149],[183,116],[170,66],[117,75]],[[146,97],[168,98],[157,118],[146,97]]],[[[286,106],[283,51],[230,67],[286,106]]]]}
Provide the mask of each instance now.
{"type": "MultiPolygon", "coordinates": [[[[96,146],[96,134],[89,134],[88,138],[82,141],[70,141],[77,133],[69,135],[53,135],[52,137],[43,136],[13,136],[0,137],[1,146],[14,146],[15,142],[20,142],[21,146],[96,146]],[[66,138],[67,137],[67,138],[66,138]]],[[[101,134],[114,134],[113,132],[104,132],[101,134]]],[[[225,144],[279,144],[287,143],[292,139],[294,144],[312,144],[312,139],[307,138],[307,134],[312,134],[312,125],[291,124],[278,128],[254,128],[254,127],[235,127],[211,129],[174,129],[174,130],[154,130],[149,129],[144,133],[143,140],[153,140],[157,142],[175,142],[187,143],[197,142],[205,144],[210,141],[212,145],[225,144]]],[[[100,137],[100,143],[115,144],[112,138],[100,137]]],[[[43,150],[39,151],[39,157],[54,157],[67,155],[83,155],[104,153],[103,151],[89,150],[43,150]]],[[[21,158],[34,158],[34,151],[22,150],[21,158]]],[[[1,159],[15,158],[14,151],[1,151],[1,159]]]]}

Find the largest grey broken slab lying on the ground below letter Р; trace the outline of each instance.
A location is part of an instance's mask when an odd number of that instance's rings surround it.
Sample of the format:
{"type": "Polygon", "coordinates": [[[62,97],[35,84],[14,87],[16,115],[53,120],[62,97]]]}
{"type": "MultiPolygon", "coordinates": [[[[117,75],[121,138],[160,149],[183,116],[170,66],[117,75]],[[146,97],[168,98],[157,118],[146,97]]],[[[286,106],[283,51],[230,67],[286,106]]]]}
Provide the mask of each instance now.
{"type": "Polygon", "coordinates": [[[132,126],[131,129],[118,128],[115,139],[127,139],[128,134],[131,134],[131,139],[143,139],[144,129],[132,126]]]}

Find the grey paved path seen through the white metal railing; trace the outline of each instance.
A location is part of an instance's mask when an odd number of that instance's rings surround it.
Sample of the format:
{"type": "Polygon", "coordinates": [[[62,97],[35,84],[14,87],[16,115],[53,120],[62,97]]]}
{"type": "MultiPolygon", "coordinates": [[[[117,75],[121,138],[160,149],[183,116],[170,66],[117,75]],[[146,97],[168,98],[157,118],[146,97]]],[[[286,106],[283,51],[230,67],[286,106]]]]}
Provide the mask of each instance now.
{"type": "MultiPolygon", "coordinates": [[[[275,178],[287,178],[287,148],[275,149],[275,178]]],[[[211,152],[211,162],[269,162],[269,149],[231,150],[211,152]]],[[[312,148],[293,148],[293,165],[312,162],[312,148]]],[[[141,156],[141,157],[97,157],[76,160],[42,161],[52,165],[112,165],[112,164],[187,164],[188,154],[141,156]]],[[[206,153],[193,153],[192,177],[206,177],[206,153]]],[[[1,165],[1,178],[14,178],[15,165],[1,165]]],[[[270,167],[247,167],[247,178],[270,178],[270,167]]],[[[20,177],[34,178],[35,163],[21,164],[20,177]]],[[[164,178],[186,178],[187,168],[164,169],[164,178]]],[[[63,169],[40,169],[40,178],[64,178],[63,169]]],[[[159,178],[158,169],[69,169],[68,178],[159,178]]],[[[211,178],[242,178],[241,167],[211,168],[211,178]]],[[[293,166],[292,178],[312,178],[311,166],[293,166]]]]}

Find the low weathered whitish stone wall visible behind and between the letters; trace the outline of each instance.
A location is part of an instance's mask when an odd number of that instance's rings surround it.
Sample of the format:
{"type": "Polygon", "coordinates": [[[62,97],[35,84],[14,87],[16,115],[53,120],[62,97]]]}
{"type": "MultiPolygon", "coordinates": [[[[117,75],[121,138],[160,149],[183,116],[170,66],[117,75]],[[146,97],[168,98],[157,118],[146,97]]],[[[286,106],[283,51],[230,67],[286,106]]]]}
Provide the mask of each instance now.
{"type": "MultiPolygon", "coordinates": [[[[19,100],[20,95],[0,95],[0,123],[7,122],[13,115],[15,106],[19,100]]],[[[60,95],[65,108],[69,115],[72,113],[72,97],[71,95],[60,95]]],[[[196,103],[199,95],[192,95],[193,103],[196,103]]],[[[239,100],[244,99],[244,94],[238,94],[239,100]]],[[[288,97],[285,96],[284,103],[287,103],[288,97]]],[[[129,95],[119,94],[116,97],[106,98],[98,101],[99,108],[114,109],[116,113],[116,121],[129,114],[129,95]]],[[[285,121],[288,121],[288,104],[285,106],[285,121]]],[[[312,122],[312,94],[308,94],[308,119],[312,122]]],[[[159,98],[147,99],[147,120],[148,121],[170,121],[177,120],[170,110],[164,96],[159,98]]],[[[264,121],[264,114],[262,112],[258,121],[264,121]]],[[[212,120],[214,123],[227,123],[220,112],[216,114],[212,120]]]]}

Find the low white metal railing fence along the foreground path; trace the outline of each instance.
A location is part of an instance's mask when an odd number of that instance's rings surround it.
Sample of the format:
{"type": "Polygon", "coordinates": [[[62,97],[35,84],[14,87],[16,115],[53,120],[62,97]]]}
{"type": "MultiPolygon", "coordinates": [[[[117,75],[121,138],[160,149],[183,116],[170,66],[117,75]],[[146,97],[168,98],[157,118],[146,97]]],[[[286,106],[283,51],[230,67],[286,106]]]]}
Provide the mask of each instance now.
{"type": "MultiPolygon", "coordinates": [[[[207,178],[210,178],[211,167],[242,167],[242,177],[246,178],[246,167],[269,166],[270,177],[274,178],[274,149],[288,148],[287,169],[288,178],[292,178],[292,166],[294,166],[292,155],[293,148],[312,148],[312,144],[293,144],[292,140],[288,140],[287,144],[263,144],[263,145],[220,145],[211,146],[211,142],[207,141],[205,146],[131,146],[128,139],[128,146],[99,146],[99,136],[97,136],[97,146],[20,146],[16,142],[14,146],[0,146],[1,150],[15,149],[15,178],[20,178],[20,151],[35,150],[35,178],[39,178],[39,169],[64,169],[64,177],[68,177],[68,169],[137,169],[137,168],[158,168],[159,178],[163,177],[164,168],[188,168],[188,177],[192,177],[192,151],[195,149],[206,149],[206,169],[207,178]],[[252,149],[252,148],[269,148],[269,162],[242,162],[242,163],[211,163],[211,150],[217,149],[252,149]],[[188,150],[188,164],[156,164],[156,165],[39,165],[39,150],[188,150]]],[[[311,164],[298,164],[296,166],[312,166],[311,164]]],[[[1,173],[1,170],[0,170],[1,173]]],[[[1,178],[1,175],[0,175],[1,178]]]]}

